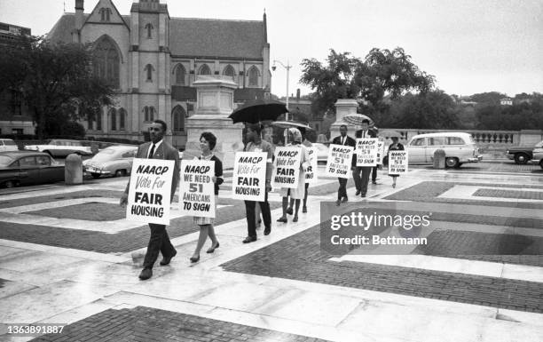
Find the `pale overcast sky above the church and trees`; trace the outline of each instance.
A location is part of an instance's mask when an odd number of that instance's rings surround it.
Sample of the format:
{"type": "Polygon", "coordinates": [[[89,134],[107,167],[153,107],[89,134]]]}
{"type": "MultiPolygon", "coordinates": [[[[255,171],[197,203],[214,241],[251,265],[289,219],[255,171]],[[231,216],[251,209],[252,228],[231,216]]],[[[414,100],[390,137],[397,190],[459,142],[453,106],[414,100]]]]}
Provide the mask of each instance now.
{"type": "MultiPolygon", "coordinates": [[[[91,12],[98,0],[85,0],[91,12]]],[[[324,60],[329,49],[364,58],[372,48],[403,47],[413,62],[437,77],[437,87],[469,95],[543,92],[541,0],[161,0],[171,17],[262,20],[268,17],[271,60],[293,66],[289,92],[304,58],[324,60]]],[[[130,14],[130,0],[114,0],[130,14]]],[[[75,0],[0,0],[0,21],[47,33],[75,0]]],[[[205,32],[202,32],[205,34],[205,32]]],[[[286,72],[272,72],[271,91],[286,92],[286,72]]]]}

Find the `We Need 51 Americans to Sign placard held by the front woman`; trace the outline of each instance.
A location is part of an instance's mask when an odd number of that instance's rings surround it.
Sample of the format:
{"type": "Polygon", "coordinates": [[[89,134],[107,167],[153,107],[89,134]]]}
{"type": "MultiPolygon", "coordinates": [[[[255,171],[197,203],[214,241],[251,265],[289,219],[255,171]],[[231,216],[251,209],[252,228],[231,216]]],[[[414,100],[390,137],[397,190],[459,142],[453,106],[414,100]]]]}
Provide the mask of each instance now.
{"type": "Polygon", "coordinates": [[[215,162],[184,159],[180,172],[181,212],[200,218],[215,218],[215,162]]]}

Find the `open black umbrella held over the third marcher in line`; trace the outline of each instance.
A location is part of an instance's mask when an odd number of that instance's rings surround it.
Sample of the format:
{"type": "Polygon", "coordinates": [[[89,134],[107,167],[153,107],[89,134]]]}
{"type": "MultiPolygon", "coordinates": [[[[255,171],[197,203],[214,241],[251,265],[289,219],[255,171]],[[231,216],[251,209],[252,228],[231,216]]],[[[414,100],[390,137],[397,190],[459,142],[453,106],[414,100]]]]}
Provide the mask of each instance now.
{"type": "Polygon", "coordinates": [[[288,109],[283,102],[274,99],[254,99],[236,108],[228,117],[233,123],[260,123],[275,121],[279,115],[287,112],[288,109]]]}

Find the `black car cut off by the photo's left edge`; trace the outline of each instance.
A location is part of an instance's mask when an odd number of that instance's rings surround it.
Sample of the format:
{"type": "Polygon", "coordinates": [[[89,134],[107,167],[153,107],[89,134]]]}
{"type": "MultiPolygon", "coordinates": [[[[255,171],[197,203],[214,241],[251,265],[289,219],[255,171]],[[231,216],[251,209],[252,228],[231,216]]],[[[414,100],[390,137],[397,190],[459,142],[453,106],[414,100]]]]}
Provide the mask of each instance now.
{"type": "Polygon", "coordinates": [[[0,187],[18,187],[64,180],[64,165],[42,152],[0,153],[0,187]]]}

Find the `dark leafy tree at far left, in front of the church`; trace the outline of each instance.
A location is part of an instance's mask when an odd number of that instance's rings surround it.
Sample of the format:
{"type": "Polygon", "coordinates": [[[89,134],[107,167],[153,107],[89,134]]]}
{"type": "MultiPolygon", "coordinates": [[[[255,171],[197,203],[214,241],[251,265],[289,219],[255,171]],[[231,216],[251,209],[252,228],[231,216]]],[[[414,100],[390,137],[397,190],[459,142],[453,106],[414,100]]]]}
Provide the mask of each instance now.
{"type": "Polygon", "coordinates": [[[47,127],[97,115],[99,107],[113,104],[114,89],[93,75],[88,47],[37,38],[0,52],[0,70],[7,73],[7,86],[20,91],[27,102],[38,139],[47,127]],[[18,67],[7,69],[15,60],[20,60],[18,67]]]}

